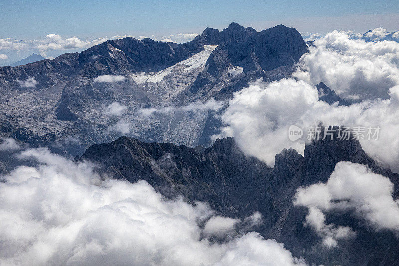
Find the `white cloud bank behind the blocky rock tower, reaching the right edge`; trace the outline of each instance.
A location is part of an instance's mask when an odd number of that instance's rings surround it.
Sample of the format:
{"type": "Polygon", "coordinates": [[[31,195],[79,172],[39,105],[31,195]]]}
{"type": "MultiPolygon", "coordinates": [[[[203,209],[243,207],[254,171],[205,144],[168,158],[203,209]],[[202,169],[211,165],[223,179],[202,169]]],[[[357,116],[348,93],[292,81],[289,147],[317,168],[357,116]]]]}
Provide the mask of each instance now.
{"type": "Polygon", "coordinates": [[[303,154],[307,129],[311,126],[380,126],[379,138],[360,139],[363,149],[379,162],[399,170],[399,86],[389,89],[387,100],[366,100],[350,106],[329,105],[318,99],[317,89],[302,81],[282,79],[270,84],[257,81],[234,94],[222,115],[222,134],[233,136],[241,149],[269,166],[274,156],[292,147],[303,154]],[[304,137],[288,138],[288,128],[299,126],[304,137]],[[384,147],[384,148],[382,148],[384,147]]]}

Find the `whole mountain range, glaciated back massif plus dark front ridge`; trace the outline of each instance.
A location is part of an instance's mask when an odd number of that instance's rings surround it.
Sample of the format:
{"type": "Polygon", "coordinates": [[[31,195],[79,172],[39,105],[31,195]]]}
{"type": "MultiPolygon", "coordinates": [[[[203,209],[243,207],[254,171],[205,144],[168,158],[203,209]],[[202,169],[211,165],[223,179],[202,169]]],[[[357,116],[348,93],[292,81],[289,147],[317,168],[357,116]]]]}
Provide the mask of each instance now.
{"type": "MultiPolygon", "coordinates": [[[[183,44],[128,37],[0,67],[0,136],[93,162],[104,178],[146,180],[167,198],[207,202],[224,216],[244,221],[259,212],[263,224],[251,230],[309,263],[394,265],[394,233],[332,213],[329,224],[350,226],[357,235],[326,249],[306,226],[305,208],[293,204],[297,189],[326,182],[341,161],[389,178],[397,197],[399,175],[369,157],[358,140],[318,139],[306,144],[304,156],[284,149],[269,167],[233,138],[212,138],[235,92],[258,79],[291,77],[308,51],[295,28],[257,32],[231,23],[183,44]]],[[[320,100],[348,105],[324,83],[316,88],[320,100]]],[[[12,156],[0,153],[0,172],[15,166],[12,156]]]]}

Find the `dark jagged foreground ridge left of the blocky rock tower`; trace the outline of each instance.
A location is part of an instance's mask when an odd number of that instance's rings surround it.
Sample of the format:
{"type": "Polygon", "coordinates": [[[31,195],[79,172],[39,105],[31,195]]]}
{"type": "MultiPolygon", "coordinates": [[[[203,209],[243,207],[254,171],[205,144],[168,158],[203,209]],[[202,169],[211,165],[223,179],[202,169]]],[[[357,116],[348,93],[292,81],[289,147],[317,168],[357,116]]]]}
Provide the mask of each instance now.
{"type": "Polygon", "coordinates": [[[144,179],[166,195],[178,192],[192,201],[207,201],[225,215],[245,217],[261,211],[271,224],[276,212],[273,201],[291,172],[299,170],[302,156],[283,151],[272,169],[244,155],[232,138],[218,139],[200,153],[184,145],[121,137],[91,146],[78,159],[99,163],[113,178],[144,179]]]}

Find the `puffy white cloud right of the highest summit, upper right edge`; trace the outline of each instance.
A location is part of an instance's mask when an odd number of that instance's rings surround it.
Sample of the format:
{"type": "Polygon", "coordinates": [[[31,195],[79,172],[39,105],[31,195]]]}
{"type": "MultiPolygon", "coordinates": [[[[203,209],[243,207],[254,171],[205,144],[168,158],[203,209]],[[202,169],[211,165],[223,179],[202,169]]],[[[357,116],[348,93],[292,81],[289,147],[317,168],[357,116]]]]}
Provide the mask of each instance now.
{"type": "Polygon", "coordinates": [[[324,82],[342,98],[388,98],[388,89],[399,84],[399,43],[366,42],[344,31],[333,31],[316,39],[315,47],[304,54],[299,79],[324,82]]]}

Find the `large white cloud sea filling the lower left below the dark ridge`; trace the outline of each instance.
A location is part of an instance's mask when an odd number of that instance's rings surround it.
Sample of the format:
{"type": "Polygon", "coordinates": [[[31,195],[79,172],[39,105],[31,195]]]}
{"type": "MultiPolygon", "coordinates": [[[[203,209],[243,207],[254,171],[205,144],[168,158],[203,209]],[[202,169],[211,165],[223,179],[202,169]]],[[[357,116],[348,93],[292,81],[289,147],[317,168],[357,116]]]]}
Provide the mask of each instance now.
{"type": "Polygon", "coordinates": [[[145,181],[100,177],[46,149],[21,158],[38,165],[0,183],[2,265],[305,265],[258,233],[204,238],[207,205],[167,200],[145,181]]]}

